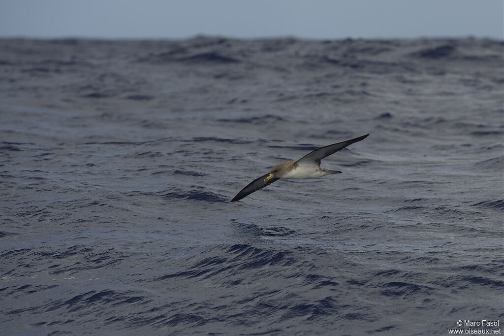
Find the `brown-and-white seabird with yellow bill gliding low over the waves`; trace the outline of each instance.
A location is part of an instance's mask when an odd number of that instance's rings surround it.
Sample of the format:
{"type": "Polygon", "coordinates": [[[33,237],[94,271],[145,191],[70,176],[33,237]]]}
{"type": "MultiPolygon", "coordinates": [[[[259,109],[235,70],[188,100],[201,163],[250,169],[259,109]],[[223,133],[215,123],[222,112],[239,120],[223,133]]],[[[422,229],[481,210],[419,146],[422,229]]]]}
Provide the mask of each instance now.
{"type": "Polygon", "coordinates": [[[243,197],[258,191],[259,189],[263,189],[280,179],[318,179],[329,174],[339,174],[341,173],[340,171],[330,171],[328,169],[321,168],[321,160],[354,142],[365,139],[368,135],[369,134],[366,134],[358,138],[317,148],[297,161],[290,160],[279,163],[271,169],[270,173],[250,182],[236,196],[234,196],[231,202],[239,201],[243,197]]]}

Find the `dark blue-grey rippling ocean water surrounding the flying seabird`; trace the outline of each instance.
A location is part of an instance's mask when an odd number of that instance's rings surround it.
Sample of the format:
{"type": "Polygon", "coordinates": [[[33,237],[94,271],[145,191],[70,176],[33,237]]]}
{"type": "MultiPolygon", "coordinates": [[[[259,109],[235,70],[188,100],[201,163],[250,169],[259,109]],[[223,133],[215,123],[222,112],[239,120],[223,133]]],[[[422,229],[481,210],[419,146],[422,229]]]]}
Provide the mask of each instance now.
{"type": "Polygon", "coordinates": [[[504,323],[502,41],[0,45],[3,335],[504,323]]]}

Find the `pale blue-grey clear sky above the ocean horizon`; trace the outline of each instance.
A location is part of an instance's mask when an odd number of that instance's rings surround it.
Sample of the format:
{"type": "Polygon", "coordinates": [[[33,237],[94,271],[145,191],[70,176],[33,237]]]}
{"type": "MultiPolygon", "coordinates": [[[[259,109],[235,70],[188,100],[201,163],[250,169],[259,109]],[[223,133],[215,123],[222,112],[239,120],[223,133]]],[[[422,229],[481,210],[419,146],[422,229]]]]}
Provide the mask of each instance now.
{"type": "Polygon", "coordinates": [[[492,37],[502,0],[0,0],[0,37],[492,37]]]}

